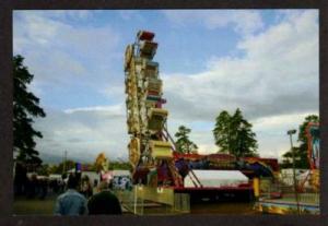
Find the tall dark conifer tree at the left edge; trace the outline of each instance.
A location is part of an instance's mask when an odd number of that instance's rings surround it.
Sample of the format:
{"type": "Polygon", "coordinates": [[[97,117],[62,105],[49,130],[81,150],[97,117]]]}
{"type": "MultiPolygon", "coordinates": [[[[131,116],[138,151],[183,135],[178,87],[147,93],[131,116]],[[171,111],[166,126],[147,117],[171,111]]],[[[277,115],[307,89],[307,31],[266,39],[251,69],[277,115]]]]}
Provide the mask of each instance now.
{"type": "Polygon", "coordinates": [[[35,150],[34,138],[42,139],[43,135],[32,124],[33,118],[45,117],[46,114],[39,107],[39,98],[27,88],[34,75],[28,72],[23,60],[20,55],[13,57],[13,151],[17,153],[19,162],[40,166],[42,159],[35,150]]]}

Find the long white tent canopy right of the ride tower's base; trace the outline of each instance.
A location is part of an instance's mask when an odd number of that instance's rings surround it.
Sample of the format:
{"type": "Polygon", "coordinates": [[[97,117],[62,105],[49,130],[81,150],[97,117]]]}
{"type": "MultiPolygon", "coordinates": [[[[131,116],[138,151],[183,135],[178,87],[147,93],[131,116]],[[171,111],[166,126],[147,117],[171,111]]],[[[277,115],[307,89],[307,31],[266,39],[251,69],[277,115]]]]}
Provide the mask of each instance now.
{"type": "Polygon", "coordinates": [[[185,177],[186,188],[195,188],[200,185],[202,187],[214,188],[237,187],[241,183],[247,182],[248,178],[238,170],[192,170],[185,177]]]}

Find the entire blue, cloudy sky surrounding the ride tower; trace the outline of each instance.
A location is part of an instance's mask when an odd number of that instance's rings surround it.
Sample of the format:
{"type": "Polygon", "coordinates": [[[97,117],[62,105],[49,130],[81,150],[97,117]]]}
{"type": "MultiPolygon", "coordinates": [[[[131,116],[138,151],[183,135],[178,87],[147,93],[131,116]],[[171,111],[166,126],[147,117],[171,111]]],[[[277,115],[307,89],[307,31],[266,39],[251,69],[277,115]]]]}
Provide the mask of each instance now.
{"type": "Polygon", "coordinates": [[[317,10],[14,11],[13,52],[47,114],[34,124],[42,158],[128,158],[124,53],[139,29],[159,43],[168,131],[190,128],[201,154],[218,152],[222,110],[239,108],[260,156],[277,158],[286,131],[318,115],[317,10]]]}

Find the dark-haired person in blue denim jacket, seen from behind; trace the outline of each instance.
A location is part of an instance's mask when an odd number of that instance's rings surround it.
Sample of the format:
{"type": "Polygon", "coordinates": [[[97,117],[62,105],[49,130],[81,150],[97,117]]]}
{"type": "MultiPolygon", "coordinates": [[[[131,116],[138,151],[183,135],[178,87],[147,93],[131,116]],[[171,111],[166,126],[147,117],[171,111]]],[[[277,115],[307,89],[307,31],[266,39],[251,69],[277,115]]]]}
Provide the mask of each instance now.
{"type": "Polygon", "coordinates": [[[85,215],[87,214],[87,201],[77,191],[79,180],[75,175],[68,178],[68,190],[57,198],[55,215],[85,215]]]}

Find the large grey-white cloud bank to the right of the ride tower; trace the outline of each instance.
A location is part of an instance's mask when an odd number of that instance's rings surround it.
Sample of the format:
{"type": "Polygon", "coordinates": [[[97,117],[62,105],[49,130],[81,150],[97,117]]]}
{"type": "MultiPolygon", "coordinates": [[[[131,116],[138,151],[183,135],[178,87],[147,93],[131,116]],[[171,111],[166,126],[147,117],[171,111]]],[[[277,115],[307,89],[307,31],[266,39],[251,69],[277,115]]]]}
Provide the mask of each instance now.
{"type": "MultiPolygon", "coordinates": [[[[173,131],[192,121],[213,124],[221,110],[238,107],[254,123],[262,156],[288,151],[285,131],[297,128],[307,114],[318,114],[317,15],[286,16],[242,39],[237,47],[244,56],[212,58],[200,73],[162,74],[173,131]]],[[[192,129],[190,138],[203,152],[214,148],[211,129],[192,129]]]]}

